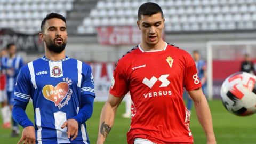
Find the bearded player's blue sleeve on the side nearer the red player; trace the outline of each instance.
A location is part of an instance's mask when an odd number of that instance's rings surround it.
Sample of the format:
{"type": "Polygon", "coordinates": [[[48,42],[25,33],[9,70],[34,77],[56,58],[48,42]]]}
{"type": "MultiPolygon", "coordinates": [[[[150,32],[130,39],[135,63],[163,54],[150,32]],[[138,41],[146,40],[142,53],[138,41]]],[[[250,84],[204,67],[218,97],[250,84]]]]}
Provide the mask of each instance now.
{"type": "Polygon", "coordinates": [[[92,69],[85,63],[82,65],[82,76],[81,94],[90,94],[95,97],[92,69]]]}

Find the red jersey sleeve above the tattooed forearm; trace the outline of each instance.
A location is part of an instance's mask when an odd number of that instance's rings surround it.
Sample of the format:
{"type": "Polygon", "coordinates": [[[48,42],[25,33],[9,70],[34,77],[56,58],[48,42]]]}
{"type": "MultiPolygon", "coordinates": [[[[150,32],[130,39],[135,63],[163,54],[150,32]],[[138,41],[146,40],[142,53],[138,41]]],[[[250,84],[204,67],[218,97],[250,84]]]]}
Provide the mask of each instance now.
{"type": "Polygon", "coordinates": [[[115,97],[122,97],[129,91],[127,76],[122,66],[124,65],[120,62],[117,63],[110,85],[109,93],[115,97]]]}

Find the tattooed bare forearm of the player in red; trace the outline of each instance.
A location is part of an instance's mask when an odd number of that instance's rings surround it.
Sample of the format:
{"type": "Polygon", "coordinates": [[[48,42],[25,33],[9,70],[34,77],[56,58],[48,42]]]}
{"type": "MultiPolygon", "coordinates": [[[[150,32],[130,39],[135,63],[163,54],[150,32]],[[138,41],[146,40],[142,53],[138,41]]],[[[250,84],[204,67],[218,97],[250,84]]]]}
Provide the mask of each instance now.
{"type": "Polygon", "coordinates": [[[102,108],[100,115],[100,124],[99,124],[99,133],[97,143],[104,143],[107,138],[111,127],[114,124],[114,119],[116,115],[116,110],[120,103],[122,102],[123,97],[115,97],[112,94],[109,94],[108,100],[102,108]]]}

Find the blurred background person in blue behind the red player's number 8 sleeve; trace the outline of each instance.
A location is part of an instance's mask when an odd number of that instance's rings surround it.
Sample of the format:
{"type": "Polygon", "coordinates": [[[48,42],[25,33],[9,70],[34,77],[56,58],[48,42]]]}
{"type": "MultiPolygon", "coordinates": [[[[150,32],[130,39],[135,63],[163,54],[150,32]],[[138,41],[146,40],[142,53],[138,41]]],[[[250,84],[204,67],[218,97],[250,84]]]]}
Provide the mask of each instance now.
{"type": "MultiPolygon", "coordinates": [[[[206,65],[206,61],[204,59],[201,59],[201,55],[198,50],[194,50],[192,53],[192,56],[196,63],[197,74],[198,74],[198,77],[202,84],[203,93],[206,96],[207,95],[207,65],[206,65]]],[[[191,114],[192,106],[193,106],[193,100],[188,96],[187,109],[190,112],[190,114],[191,114]]]]}

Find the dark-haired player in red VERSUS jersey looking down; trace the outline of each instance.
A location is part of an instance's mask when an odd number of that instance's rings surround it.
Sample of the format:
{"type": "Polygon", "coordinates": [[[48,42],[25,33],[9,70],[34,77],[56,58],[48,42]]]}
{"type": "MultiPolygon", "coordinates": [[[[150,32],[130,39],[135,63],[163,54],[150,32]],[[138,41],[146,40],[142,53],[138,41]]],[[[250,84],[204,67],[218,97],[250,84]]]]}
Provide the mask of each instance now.
{"type": "Polygon", "coordinates": [[[155,3],[142,4],[137,25],[142,41],[116,64],[109,98],[101,111],[97,143],[105,141],[116,110],[128,91],[132,99],[129,144],[193,143],[190,116],[182,98],[183,87],[195,103],[207,144],[216,143],[210,109],[193,58],[162,39],[161,7],[155,3]]]}

